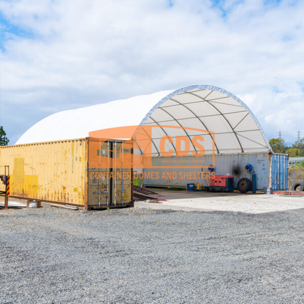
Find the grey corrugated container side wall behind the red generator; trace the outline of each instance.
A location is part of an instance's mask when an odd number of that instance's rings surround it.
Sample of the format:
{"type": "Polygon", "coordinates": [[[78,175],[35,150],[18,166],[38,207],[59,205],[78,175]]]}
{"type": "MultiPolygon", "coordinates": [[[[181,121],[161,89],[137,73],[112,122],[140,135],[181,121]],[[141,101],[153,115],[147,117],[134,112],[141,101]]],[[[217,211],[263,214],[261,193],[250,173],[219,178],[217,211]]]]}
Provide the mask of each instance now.
{"type": "MultiPolygon", "coordinates": [[[[194,156],[186,157],[169,157],[153,158],[154,166],[186,166],[193,165],[199,166],[203,164],[208,166],[212,164],[212,156],[203,156],[202,158],[196,158],[194,156]]],[[[240,178],[244,176],[251,180],[251,173],[244,170],[246,164],[251,164],[253,170],[256,173],[256,188],[263,189],[269,186],[270,175],[270,155],[268,153],[242,153],[242,154],[219,154],[215,155],[215,174],[216,175],[234,175],[235,187],[240,178]],[[235,174],[234,168],[239,167],[240,173],[235,174]]],[[[144,169],[144,185],[149,186],[186,186],[187,183],[201,183],[202,186],[209,185],[209,178],[198,178],[199,172],[209,172],[205,169],[192,169],[192,168],[164,168],[164,169],[144,169]],[[176,178],[173,178],[173,172],[176,174],[176,178]],[[170,174],[171,173],[171,174],[170,174]],[[196,176],[194,174],[196,173],[196,176]],[[150,175],[150,176],[148,176],[150,175]],[[165,176],[168,175],[168,178],[165,176]],[[154,178],[152,178],[152,176],[154,178]],[[159,176],[159,178],[156,178],[159,176]]]]}

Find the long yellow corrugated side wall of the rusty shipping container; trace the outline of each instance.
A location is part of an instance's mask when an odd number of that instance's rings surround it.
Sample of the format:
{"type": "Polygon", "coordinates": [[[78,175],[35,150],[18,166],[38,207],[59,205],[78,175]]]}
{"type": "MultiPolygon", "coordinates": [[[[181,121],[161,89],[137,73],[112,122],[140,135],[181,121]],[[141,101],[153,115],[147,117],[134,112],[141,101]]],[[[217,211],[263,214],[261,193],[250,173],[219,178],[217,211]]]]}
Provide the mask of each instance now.
{"type": "Polygon", "coordinates": [[[0,164],[10,166],[11,196],[84,205],[85,139],[2,146],[0,164]]]}

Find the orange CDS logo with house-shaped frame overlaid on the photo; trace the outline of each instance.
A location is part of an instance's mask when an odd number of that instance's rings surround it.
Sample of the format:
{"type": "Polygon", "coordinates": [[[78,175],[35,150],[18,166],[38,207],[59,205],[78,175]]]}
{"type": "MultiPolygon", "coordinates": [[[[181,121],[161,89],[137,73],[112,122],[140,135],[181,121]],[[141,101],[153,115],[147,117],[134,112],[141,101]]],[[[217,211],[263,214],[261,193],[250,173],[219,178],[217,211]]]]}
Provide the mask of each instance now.
{"type": "MultiPolygon", "coordinates": [[[[96,168],[208,168],[204,164],[205,142],[214,132],[167,125],[109,128],[89,133],[89,164],[96,168]],[[192,158],[186,158],[192,156],[192,158]],[[156,161],[156,159],[160,159],[156,161]],[[189,161],[191,159],[191,161],[189,161]]],[[[210,146],[208,144],[208,146],[210,146]]],[[[209,148],[210,149],[210,148],[209,148]]]]}

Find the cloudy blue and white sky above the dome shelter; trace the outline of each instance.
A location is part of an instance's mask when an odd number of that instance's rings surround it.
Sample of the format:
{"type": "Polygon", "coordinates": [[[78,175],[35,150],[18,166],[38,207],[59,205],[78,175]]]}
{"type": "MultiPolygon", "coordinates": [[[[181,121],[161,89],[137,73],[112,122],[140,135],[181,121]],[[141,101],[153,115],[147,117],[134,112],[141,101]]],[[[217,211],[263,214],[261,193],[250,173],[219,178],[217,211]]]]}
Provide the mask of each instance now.
{"type": "Polygon", "coordinates": [[[13,144],[61,110],[205,84],[291,144],[303,14],[301,0],[0,0],[0,125],[13,144]]]}

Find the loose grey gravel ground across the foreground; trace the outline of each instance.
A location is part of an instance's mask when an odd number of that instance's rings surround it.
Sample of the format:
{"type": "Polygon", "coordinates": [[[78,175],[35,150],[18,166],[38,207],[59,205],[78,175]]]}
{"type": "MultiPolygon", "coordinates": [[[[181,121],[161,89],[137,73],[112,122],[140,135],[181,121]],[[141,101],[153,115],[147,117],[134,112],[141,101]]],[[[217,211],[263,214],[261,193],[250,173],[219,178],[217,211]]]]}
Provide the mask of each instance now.
{"type": "Polygon", "coordinates": [[[1,303],[304,303],[304,210],[0,210],[1,303]]]}

